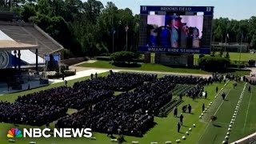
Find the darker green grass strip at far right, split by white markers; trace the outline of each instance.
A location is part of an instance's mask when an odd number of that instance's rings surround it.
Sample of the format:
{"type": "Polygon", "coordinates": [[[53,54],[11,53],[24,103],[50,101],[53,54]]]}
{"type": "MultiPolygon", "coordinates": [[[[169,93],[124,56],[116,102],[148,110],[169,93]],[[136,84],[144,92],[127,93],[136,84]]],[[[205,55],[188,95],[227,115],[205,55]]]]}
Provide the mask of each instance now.
{"type": "MultiPolygon", "coordinates": [[[[206,131],[202,135],[202,138],[198,143],[222,143],[225,140],[226,133],[228,132],[228,128],[230,125],[230,121],[234,114],[235,107],[237,106],[238,99],[240,94],[242,93],[242,89],[245,86],[245,83],[238,83],[238,86],[233,89],[233,87],[226,88],[226,91],[229,91],[228,96],[226,97],[226,101],[218,100],[218,105],[215,106],[217,111],[216,121],[210,122],[206,126],[206,131]]],[[[230,132],[229,142],[234,142],[239,138],[244,138],[248,134],[253,134],[255,132],[255,120],[256,115],[253,114],[255,110],[254,102],[255,98],[252,99],[253,93],[248,92],[248,86],[246,86],[244,97],[242,98],[242,102],[240,108],[238,110],[238,115],[230,132]],[[253,127],[254,126],[254,127],[253,127]]],[[[255,89],[255,86],[254,86],[255,89]]],[[[218,98],[222,99],[222,98],[218,98]]],[[[213,114],[213,113],[212,113],[213,114]]],[[[209,115],[207,120],[203,120],[202,122],[209,122],[209,115]]]]}

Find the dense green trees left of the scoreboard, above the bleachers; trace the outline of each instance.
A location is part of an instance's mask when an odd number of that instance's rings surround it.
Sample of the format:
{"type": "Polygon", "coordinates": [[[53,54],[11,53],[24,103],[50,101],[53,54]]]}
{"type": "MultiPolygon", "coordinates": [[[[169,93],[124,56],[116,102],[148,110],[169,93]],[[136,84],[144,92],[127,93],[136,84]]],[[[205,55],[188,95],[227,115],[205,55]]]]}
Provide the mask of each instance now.
{"type": "Polygon", "coordinates": [[[37,24],[75,56],[94,57],[123,50],[125,26],[129,26],[128,50],[137,50],[138,15],[128,8],[118,9],[113,2],[107,2],[105,7],[98,0],[21,0],[18,3],[22,5],[12,6],[11,11],[23,21],[37,24]]]}

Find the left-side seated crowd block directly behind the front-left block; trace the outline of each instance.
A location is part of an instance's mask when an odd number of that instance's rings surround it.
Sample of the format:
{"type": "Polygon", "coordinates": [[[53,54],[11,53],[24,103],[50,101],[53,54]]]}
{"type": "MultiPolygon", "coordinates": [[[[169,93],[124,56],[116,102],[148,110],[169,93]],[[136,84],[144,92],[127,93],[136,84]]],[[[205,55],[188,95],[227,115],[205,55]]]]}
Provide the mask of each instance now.
{"type": "Polygon", "coordinates": [[[16,102],[81,110],[105,98],[110,98],[113,94],[113,90],[93,90],[89,88],[75,90],[72,87],[60,86],[38,93],[19,96],[16,102]]]}

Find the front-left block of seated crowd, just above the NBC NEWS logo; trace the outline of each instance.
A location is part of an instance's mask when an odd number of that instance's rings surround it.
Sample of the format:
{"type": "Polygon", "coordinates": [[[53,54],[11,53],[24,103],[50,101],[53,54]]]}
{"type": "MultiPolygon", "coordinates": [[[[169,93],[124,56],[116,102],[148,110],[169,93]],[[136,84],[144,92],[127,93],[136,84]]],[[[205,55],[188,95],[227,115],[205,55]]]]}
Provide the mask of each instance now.
{"type": "Polygon", "coordinates": [[[0,102],[0,111],[0,122],[42,126],[64,117],[67,109],[22,102],[0,102]]]}

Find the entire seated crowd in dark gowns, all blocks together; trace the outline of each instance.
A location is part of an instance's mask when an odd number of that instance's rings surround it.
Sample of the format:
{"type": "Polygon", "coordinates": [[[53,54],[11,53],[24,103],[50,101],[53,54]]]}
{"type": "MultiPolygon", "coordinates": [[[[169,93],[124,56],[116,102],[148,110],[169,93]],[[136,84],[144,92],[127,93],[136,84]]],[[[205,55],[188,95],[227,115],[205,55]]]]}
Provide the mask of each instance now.
{"type": "Polygon", "coordinates": [[[210,78],[152,74],[110,73],[106,78],[77,82],[25,96],[14,103],[0,102],[0,121],[31,126],[90,127],[107,134],[142,136],[154,126],[154,115],[172,100],[177,84],[194,85],[190,93],[198,95],[210,78]],[[114,96],[114,91],[125,91],[114,96]],[[128,91],[130,90],[130,91],[128,91]],[[199,91],[199,92],[198,92],[199,91]],[[67,115],[69,108],[78,112],[67,115]]]}

